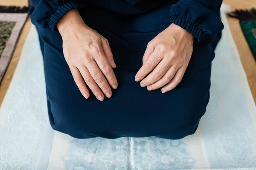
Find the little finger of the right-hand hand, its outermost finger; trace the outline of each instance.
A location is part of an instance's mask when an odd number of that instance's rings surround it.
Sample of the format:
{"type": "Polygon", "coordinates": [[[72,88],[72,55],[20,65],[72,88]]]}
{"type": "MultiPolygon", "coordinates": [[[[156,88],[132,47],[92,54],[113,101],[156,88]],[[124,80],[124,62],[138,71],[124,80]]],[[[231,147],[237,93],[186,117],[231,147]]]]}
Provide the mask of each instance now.
{"type": "Polygon", "coordinates": [[[162,93],[166,93],[167,91],[174,89],[181,82],[185,71],[186,67],[179,68],[172,80],[162,88],[162,93]]]}

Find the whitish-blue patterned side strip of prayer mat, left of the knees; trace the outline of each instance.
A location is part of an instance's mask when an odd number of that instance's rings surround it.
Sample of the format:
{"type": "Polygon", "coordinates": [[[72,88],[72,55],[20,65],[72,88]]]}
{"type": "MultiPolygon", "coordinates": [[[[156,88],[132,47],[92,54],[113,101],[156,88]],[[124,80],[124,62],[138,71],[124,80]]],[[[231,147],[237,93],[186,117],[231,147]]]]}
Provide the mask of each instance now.
{"type": "Polygon", "coordinates": [[[0,170],[35,170],[49,126],[41,55],[26,56],[24,68],[0,126],[0,170]]]}

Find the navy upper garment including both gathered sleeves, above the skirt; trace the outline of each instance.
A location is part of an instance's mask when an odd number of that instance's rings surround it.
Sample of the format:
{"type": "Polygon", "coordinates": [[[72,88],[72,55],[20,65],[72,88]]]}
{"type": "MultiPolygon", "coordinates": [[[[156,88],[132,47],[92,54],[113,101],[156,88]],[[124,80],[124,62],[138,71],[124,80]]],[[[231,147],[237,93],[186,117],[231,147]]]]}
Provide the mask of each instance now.
{"type": "Polygon", "coordinates": [[[184,28],[198,42],[204,39],[204,44],[211,43],[223,29],[219,17],[222,0],[31,0],[31,2],[34,6],[32,23],[55,31],[57,31],[56,24],[64,14],[74,8],[83,8],[88,2],[124,15],[148,13],[163,3],[168,4],[170,15],[163,18],[166,23],[174,23],[184,28]]]}

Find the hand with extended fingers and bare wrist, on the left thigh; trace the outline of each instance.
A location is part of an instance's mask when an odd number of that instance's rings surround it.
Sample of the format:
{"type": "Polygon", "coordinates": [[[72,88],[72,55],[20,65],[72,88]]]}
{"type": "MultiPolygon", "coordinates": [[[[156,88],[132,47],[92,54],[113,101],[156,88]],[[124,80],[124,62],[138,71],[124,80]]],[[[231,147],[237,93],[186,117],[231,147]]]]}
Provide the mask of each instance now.
{"type": "Polygon", "coordinates": [[[104,94],[110,98],[111,87],[117,88],[117,80],[108,40],[88,27],[76,9],[69,11],[57,28],[63,40],[64,57],[81,94],[86,99],[90,96],[86,83],[98,100],[103,101],[104,94]]]}

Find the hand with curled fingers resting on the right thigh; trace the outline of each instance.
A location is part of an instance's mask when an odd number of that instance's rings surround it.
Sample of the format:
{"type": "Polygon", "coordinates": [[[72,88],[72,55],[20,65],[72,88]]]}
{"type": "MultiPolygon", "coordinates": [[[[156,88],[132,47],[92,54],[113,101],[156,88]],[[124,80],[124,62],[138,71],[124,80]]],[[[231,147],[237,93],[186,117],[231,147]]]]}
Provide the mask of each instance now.
{"type": "Polygon", "coordinates": [[[171,24],[148,43],[143,65],[136,74],[135,81],[142,80],[141,87],[147,86],[149,91],[164,86],[162,93],[165,93],[175,88],[189,64],[193,40],[192,34],[171,24]]]}

